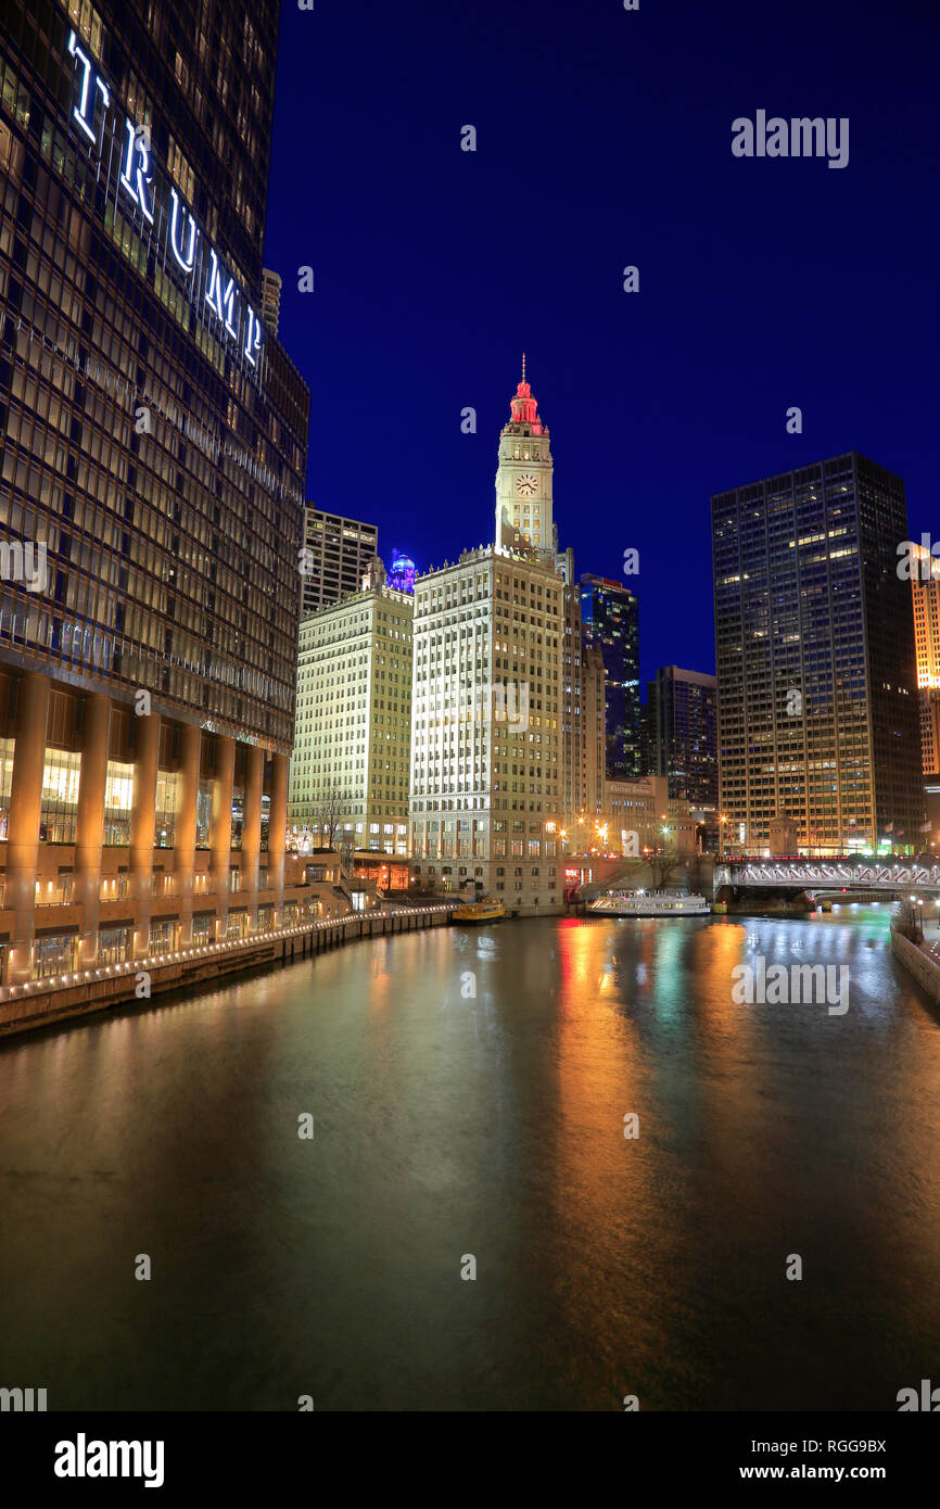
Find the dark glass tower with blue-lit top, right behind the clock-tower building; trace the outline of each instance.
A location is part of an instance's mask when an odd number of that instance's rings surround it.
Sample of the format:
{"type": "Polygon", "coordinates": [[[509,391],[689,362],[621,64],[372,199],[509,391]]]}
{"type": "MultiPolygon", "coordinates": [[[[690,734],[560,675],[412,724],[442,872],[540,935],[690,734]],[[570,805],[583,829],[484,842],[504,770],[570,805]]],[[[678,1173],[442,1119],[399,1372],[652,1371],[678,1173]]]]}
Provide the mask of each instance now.
{"type": "Polygon", "coordinates": [[[605,672],[607,774],[640,774],[640,604],[607,576],[581,576],[585,649],[599,649],[605,672]]]}

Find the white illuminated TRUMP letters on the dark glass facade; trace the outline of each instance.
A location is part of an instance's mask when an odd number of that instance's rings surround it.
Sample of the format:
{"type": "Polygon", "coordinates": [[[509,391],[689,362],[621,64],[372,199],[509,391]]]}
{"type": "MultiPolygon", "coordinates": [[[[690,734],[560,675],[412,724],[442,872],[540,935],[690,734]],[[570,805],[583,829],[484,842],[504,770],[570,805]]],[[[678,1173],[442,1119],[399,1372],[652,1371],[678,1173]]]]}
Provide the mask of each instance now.
{"type": "MultiPolygon", "coordinates": [[[[68,50],[75,62],[71,124],[95,148],[101,161],[112,92],[74,32],[69,33],[68,50]]],[[[231,343],[237,341],[244,359],[257,367],[261,320],[235,279],[226,276],[214,246],[202,235],[195,216],[172,184],[163,184],[161,195],[155,192],[149,125],[134,125],[125,116],[124,134],[115,131],[109,146],[109,187],[112,169],[118,169],[115,201],[124,199],[155,228],[164,252],[169,252],[169,266],[187,288],[190,302],[198,305],[202,299],[214,315],[217,333],[231,343]]]]}

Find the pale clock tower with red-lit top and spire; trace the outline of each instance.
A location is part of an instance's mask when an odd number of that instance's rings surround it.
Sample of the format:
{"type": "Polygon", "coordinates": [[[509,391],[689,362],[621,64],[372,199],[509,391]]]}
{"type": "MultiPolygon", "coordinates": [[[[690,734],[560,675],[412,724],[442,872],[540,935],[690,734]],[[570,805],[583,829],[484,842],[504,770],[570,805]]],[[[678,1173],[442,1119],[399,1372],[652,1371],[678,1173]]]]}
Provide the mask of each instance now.
{"type": "Polygon", "coordinates": [[[539,404],[525,380],[510,400],[511,418],[499,435],[496,469],[496,545],[504,549],[534,549],[554,555],[557,549],[552,518],[552,456],[548,426],[539,418],[539,404]]]}

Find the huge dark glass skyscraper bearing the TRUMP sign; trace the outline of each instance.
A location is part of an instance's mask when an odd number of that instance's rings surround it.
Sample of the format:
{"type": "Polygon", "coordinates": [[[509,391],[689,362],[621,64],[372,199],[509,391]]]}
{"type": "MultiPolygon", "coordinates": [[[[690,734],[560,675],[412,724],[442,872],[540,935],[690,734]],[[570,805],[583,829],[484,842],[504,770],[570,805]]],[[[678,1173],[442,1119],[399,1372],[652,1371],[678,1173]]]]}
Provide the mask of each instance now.
{"type": "Polygon", "coordinates": [[[8,996],[302,905],[309,395],[258,314],[278,6],[146,11],[12,0],[0,32],[8,996]]]}

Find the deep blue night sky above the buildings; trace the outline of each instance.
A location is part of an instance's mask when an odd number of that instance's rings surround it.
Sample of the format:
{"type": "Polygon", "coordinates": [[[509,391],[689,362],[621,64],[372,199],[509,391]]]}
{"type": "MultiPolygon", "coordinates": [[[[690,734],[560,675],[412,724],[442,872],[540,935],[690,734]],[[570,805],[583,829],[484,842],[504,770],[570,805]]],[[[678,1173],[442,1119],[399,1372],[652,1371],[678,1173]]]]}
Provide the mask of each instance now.
{"type": "Polygon", "coordinates": [[[282,0],[266,264],[308,496],[386,560],[492,540],[527,350],[561,545],[640,549],[646,679],[714,670],[712,492],[854,448],[940,531],[940,3],[640,5],[282,0]],[[757,109],[848,116],[848,167],[732,157],[757,109]]]}

